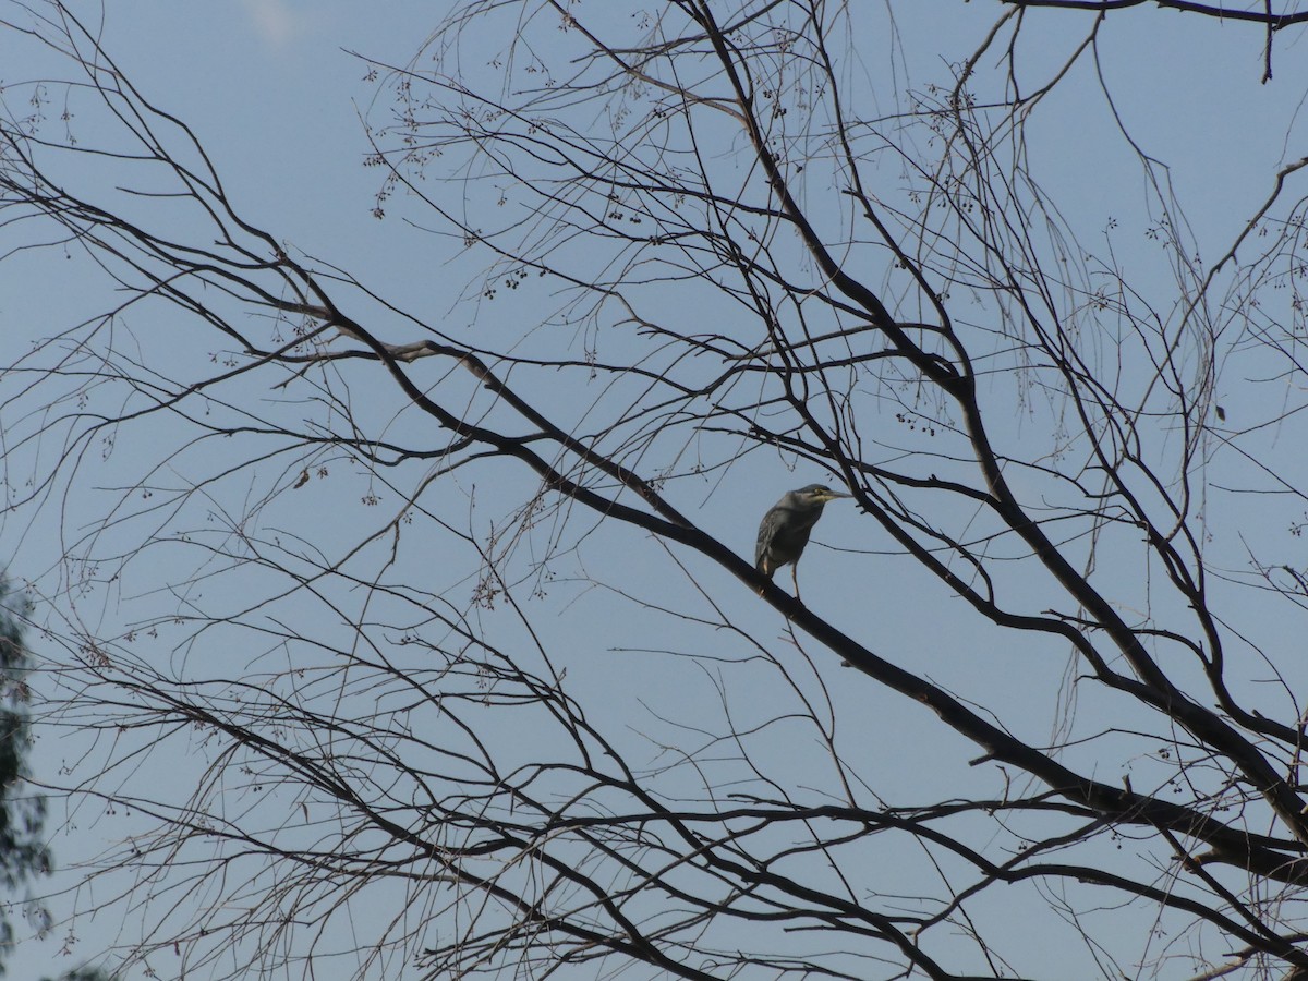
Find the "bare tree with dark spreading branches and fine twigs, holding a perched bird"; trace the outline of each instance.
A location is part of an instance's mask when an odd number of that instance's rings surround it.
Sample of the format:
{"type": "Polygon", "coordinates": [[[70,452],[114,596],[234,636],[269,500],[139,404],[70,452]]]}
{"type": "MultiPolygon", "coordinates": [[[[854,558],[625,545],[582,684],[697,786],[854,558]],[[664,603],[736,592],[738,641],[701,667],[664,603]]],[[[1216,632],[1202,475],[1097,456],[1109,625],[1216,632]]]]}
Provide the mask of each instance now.
{"type": "MultiPolygon", "coordinates": [[[[1044,127],[1142,5],[991,7],[896,88],[897,4],[456,4],[369,63],[373,213],[447,262],[378,285],[20,5],[81,77],[5,93],[0,252],[97,306],[5,477],[128,965],[1308,971],[1308,161],[1214,252],[1103,82],[1074,162],[1144,208],[1083,207],[1044,127]],[[800,602],[751,549],[810,475],[800,602]]],[[[1158,7],[1269,71],[1304,20],[1158,7]]]]}

